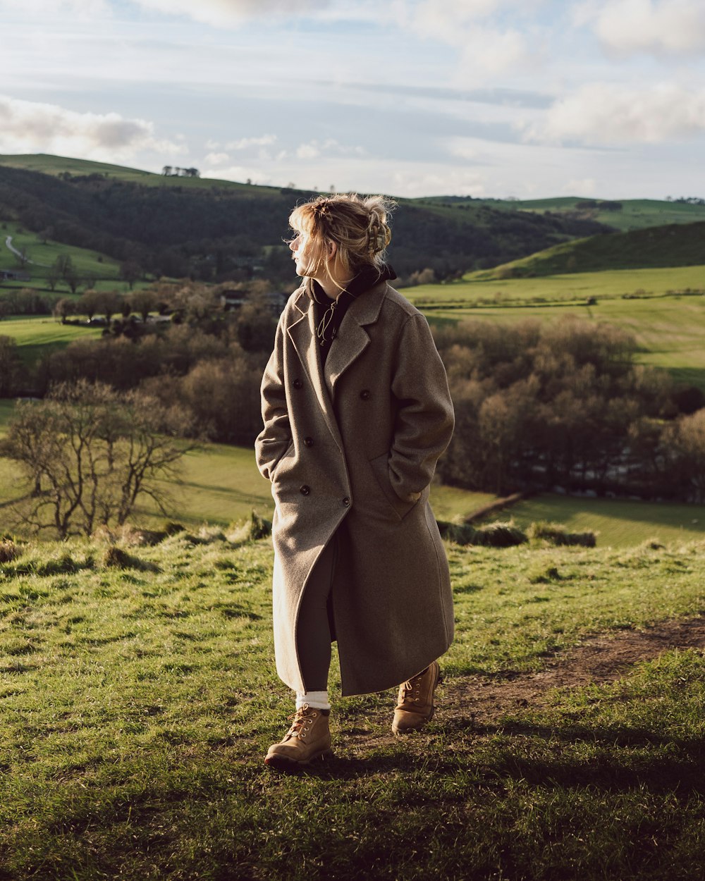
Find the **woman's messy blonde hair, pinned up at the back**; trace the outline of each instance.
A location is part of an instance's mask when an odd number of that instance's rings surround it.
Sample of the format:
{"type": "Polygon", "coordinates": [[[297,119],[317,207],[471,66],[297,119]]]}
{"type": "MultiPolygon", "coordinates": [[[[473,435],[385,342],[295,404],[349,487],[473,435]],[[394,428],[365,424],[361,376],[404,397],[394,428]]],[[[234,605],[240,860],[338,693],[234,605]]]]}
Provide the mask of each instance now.
{"type": "Polygon", "coordinates": [[[334,264],[338,278],[352,278],[367,266],[381,270],[391,241],[388,218],[394,207],[386,196],[362,198],[357,193],[318,196],[297,205],[289,215],[289,226],[308,237],[306,275],[315,275],[324,266],[331,281],[338,285],[325,260],[331,241],[337,245],[334,264]]]}

